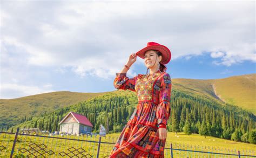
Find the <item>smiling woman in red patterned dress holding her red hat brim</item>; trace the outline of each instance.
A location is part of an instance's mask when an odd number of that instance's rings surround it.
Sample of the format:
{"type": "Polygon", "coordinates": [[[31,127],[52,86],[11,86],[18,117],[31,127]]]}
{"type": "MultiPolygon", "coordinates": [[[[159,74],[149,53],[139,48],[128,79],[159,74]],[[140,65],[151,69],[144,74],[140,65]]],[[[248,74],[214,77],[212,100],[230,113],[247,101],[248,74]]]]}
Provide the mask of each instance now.
{"type": "Polygon", "coordinates": [[[171,51],[166,46],[149,42],[144,49],[132,53],[122,71],[116,73],[114,87],[136,92],[138,105],[109,157],[164,157],[172,88],[164,64],[170,60],[171,51]],[[144,59],[150,73],[129,79],[126,72],[137,56],[144,59]]]}

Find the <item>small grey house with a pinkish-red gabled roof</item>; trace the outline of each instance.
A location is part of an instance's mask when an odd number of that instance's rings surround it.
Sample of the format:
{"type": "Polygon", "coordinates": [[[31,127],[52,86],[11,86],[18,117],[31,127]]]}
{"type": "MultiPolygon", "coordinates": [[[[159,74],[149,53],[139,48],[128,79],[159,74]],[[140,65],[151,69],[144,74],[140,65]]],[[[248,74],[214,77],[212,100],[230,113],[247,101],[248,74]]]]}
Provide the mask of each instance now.
{"type": "Polygon", "coordinates": [[[70,112],[60,122],[60,133],[80,134],[92,132],[92,123],[86,116],[70,112]]]}

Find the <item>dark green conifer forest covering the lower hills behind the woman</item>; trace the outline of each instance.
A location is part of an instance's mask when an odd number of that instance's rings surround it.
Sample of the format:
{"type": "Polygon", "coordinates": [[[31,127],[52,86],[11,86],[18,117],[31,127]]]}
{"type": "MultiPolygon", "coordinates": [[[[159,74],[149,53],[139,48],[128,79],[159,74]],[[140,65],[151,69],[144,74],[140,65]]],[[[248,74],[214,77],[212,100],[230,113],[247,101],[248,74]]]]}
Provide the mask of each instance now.
{"type": "MultiPolygon", "coordinates": [[[[98,132],[101,124],[104,125],[107,133],[122,132],[136,107],[136,100],[136,95],[97,97],[72,107],[58,109],[40,119],[32,119],[28,126],[53,132],[59,130],[59,121],[73,111],[85,115],[90,120],[93,132],[98,132]]],[[[256,143],[256,116],[250,112],[237,106],[222,105],[214,100],[180,91],[172,91],[170,102],[171,116],[167,122],[169,132],[184,132],[188,135],[197,133],[203,136],[256,143]]]]}

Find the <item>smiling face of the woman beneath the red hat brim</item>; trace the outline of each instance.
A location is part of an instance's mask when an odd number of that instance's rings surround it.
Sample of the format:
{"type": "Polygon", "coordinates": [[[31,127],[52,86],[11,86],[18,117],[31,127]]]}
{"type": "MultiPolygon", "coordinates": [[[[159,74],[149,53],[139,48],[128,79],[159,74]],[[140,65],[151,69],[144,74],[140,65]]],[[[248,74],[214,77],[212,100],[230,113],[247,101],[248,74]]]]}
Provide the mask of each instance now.
{"type": "Polygon", "coordinates": [[[158,57],[157,53],[153,50],[149,50],[144,54],[144,64],[147,68],[157,67],[157,64],[160,61],[161,61],[161,56],[158,57]]]}

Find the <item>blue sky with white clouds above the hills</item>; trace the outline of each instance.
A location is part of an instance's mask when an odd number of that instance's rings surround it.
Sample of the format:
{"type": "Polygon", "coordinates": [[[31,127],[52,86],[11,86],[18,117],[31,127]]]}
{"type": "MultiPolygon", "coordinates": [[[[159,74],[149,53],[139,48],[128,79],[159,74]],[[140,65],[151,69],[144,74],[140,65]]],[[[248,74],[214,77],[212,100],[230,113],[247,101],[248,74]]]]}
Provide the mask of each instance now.
{"type": "MultiPolygon", "coordinates": [[[[0,98],[114,91],[131,53],[169,47],[171,78],[256,72],[255,1],[0,1],[0,98]]],[[[127,77],[145,74],[137,57],[127,77]]]]}

